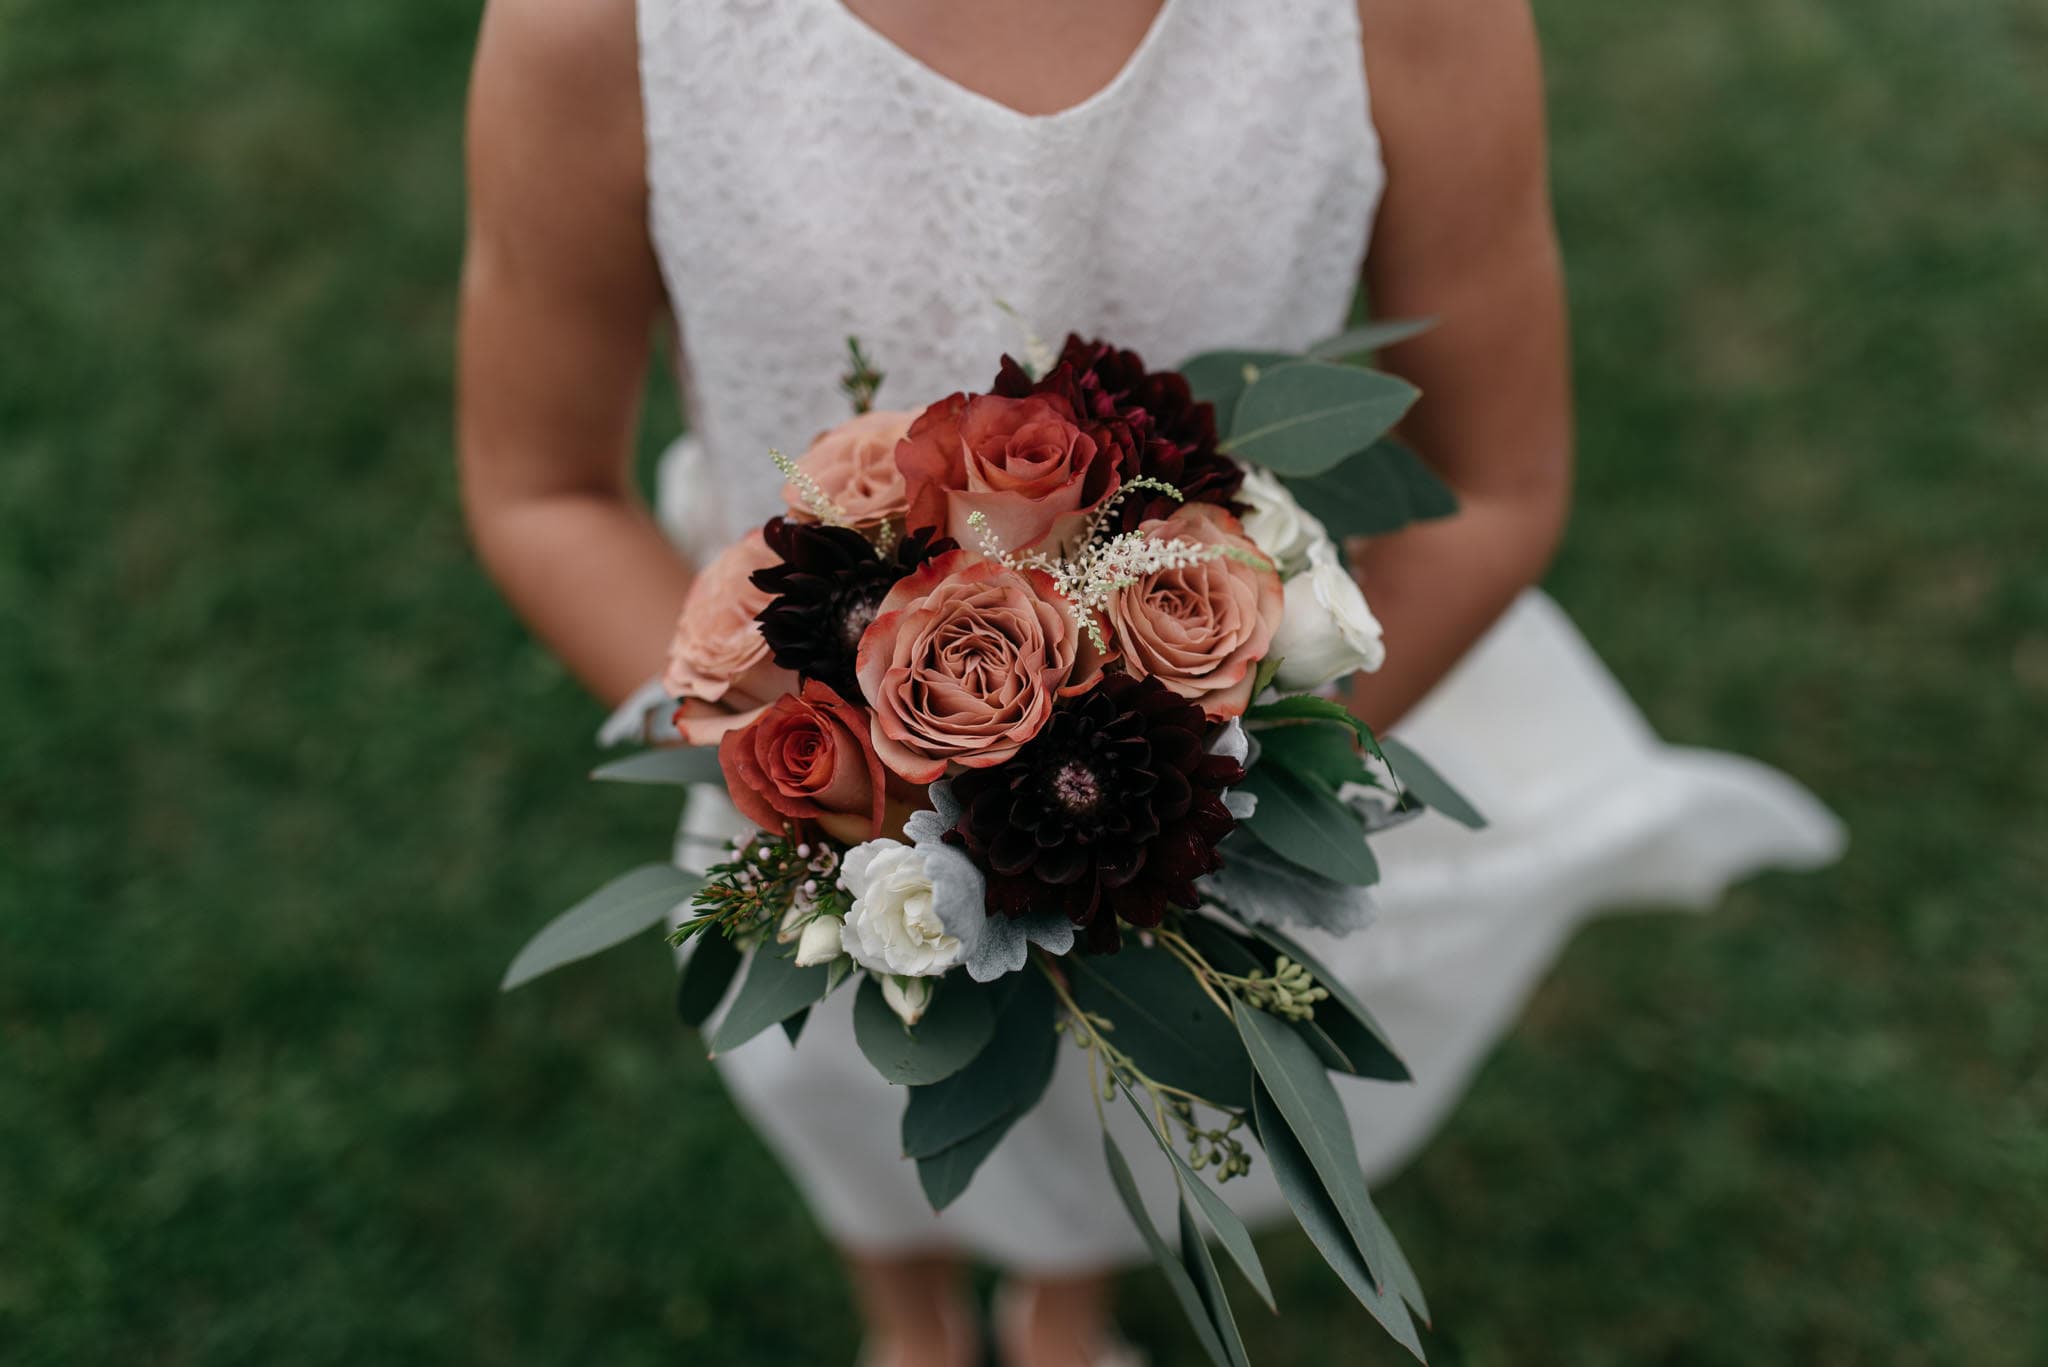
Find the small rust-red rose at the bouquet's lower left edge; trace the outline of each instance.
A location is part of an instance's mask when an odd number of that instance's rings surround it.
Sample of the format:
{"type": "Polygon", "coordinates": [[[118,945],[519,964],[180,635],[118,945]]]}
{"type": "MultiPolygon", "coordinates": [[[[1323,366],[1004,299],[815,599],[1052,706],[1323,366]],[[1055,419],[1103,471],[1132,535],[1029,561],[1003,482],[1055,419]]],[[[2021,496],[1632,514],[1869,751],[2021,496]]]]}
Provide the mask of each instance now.
{"type": "Polygon", "coordinates": [[[815,678],[727,732],[719,769],[733,805],[762,830],[817,822],[848,844],[883,834],[885,773],[866,711],[815,678]]]}

